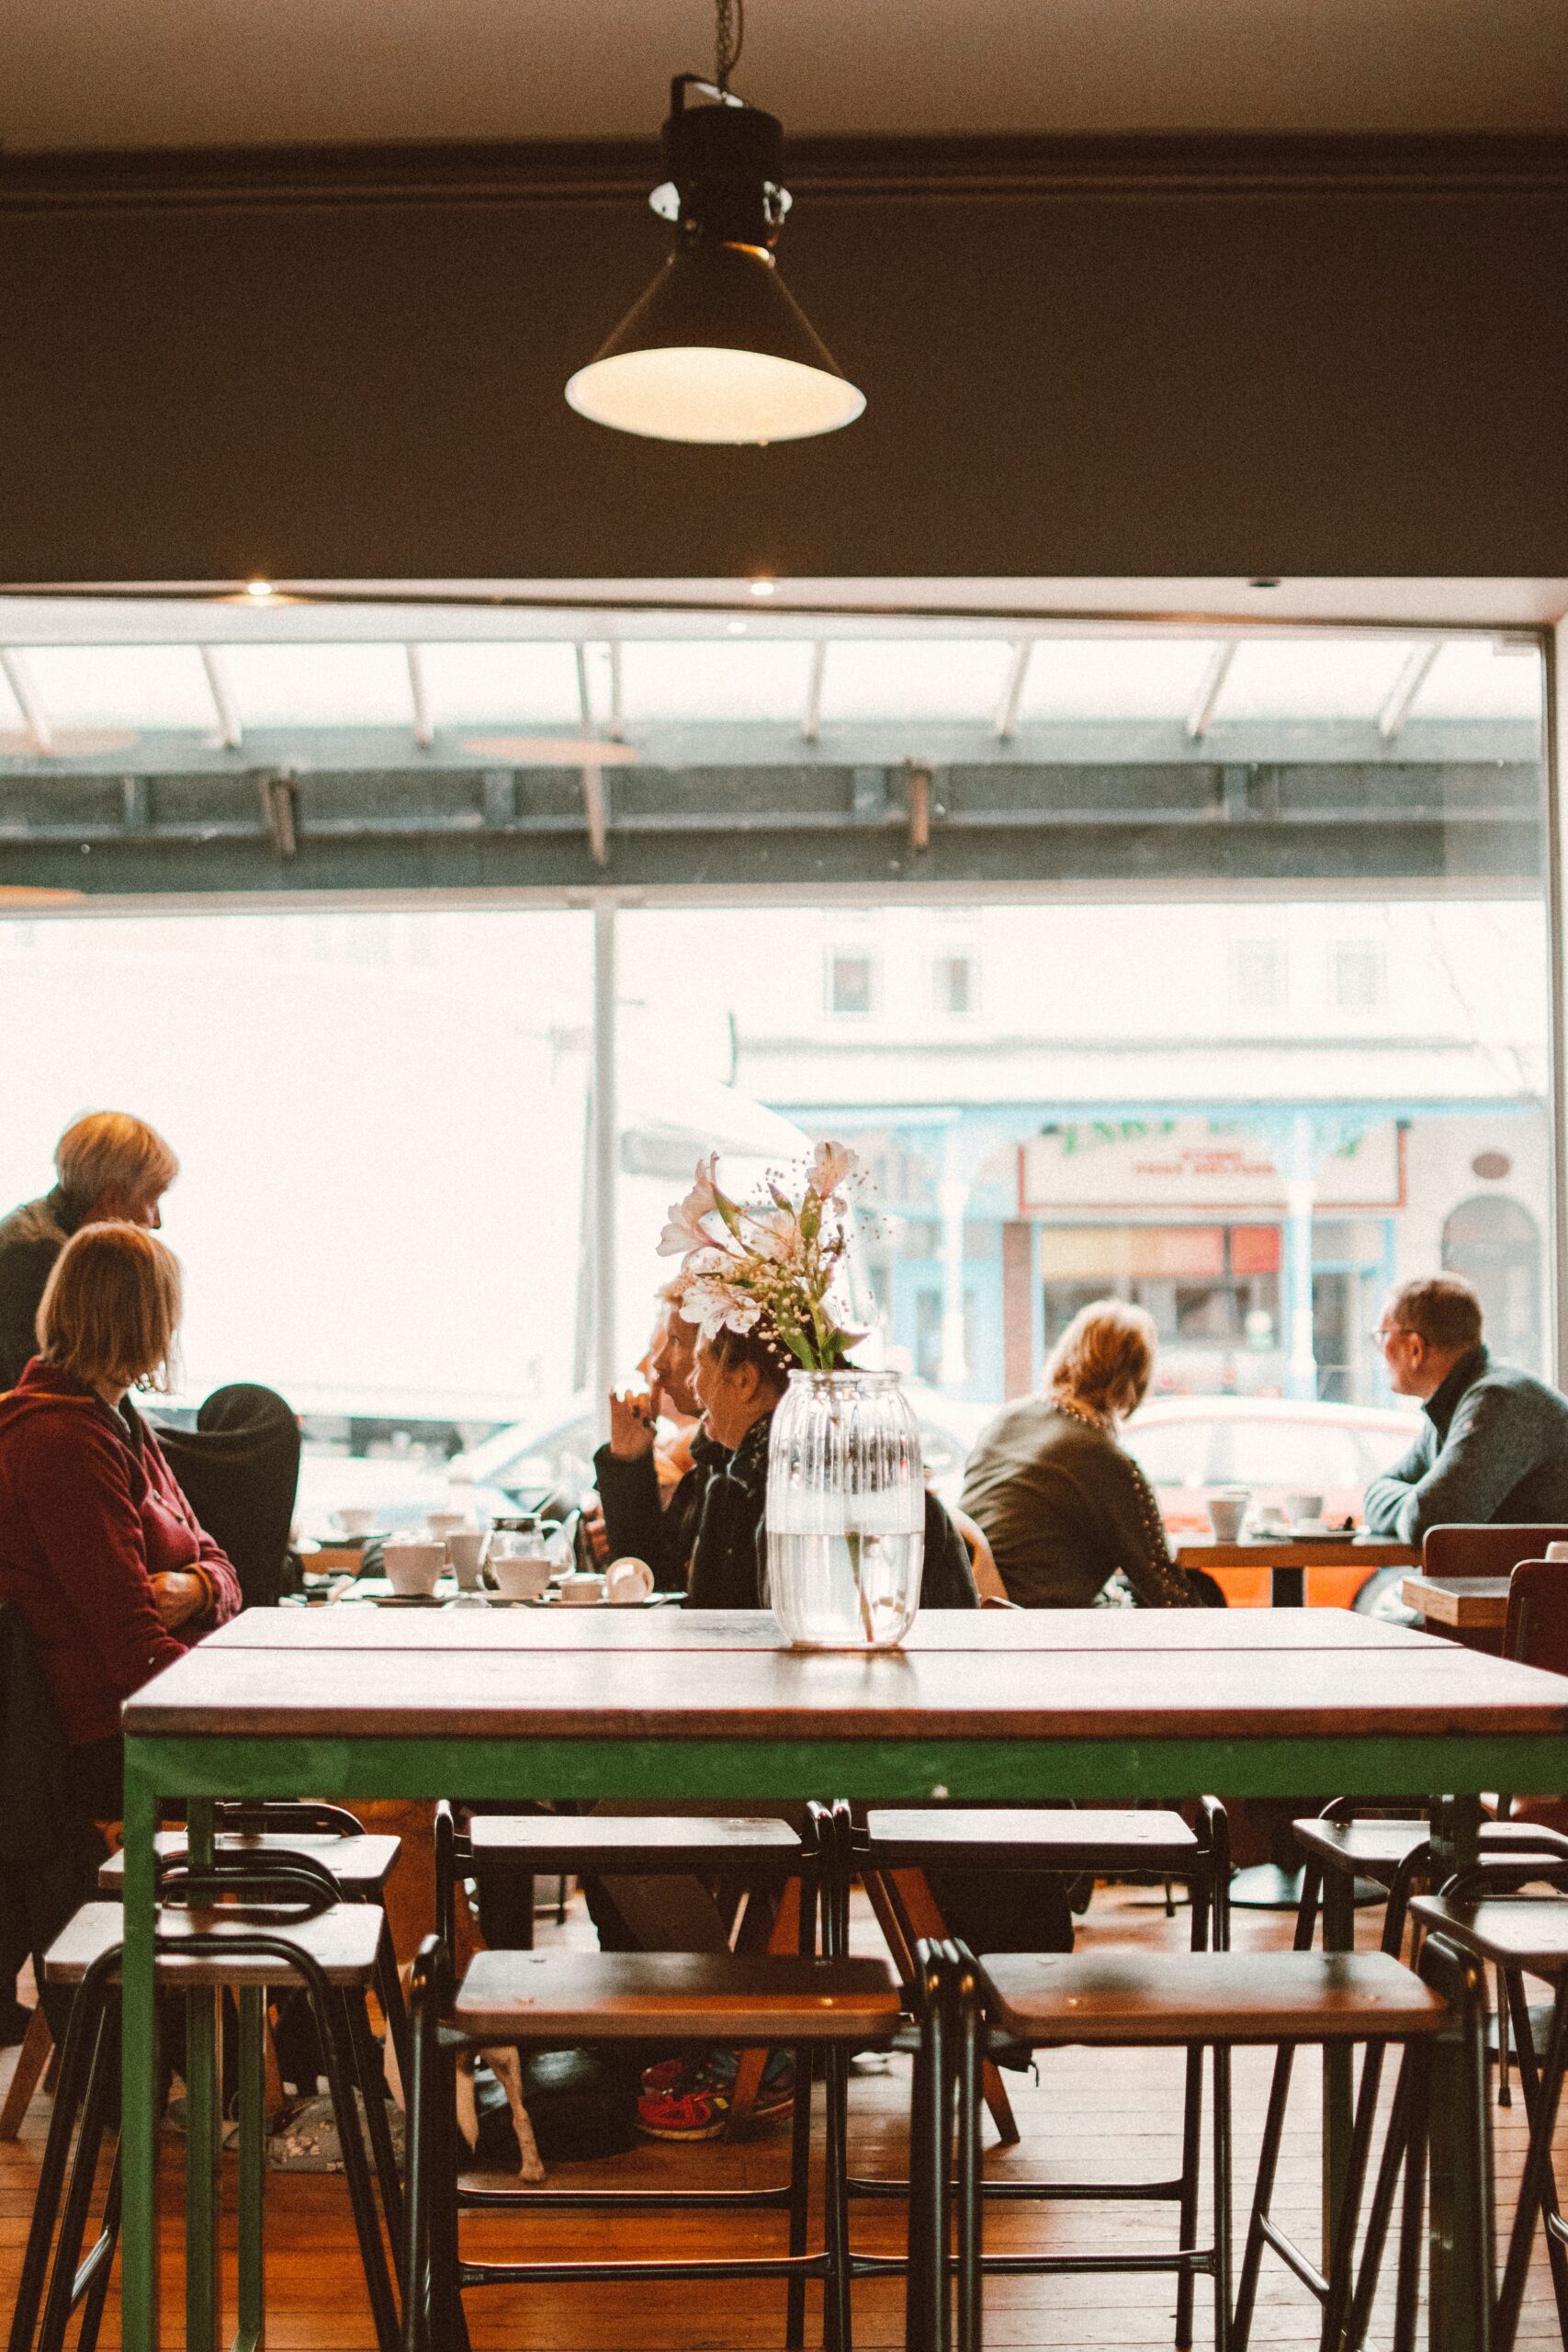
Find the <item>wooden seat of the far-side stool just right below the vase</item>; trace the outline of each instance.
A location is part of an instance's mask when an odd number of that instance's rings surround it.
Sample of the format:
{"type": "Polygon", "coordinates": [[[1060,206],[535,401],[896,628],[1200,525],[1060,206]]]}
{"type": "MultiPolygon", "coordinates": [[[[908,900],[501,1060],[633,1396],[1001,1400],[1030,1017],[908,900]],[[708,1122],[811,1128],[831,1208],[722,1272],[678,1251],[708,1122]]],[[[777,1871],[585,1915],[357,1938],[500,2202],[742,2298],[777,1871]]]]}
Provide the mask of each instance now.
{"type": "Polygon", "coordinates": [[[865,1816],[879,1870],[1192,1870],[1197,1835],[1180,1813],[1072,1813],[1046,1806],[931,1811],[875,1806],[865,1816]]]}

